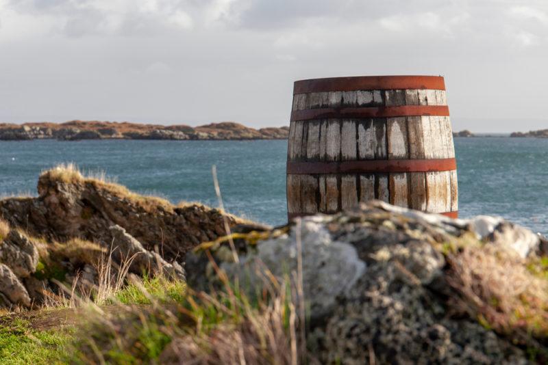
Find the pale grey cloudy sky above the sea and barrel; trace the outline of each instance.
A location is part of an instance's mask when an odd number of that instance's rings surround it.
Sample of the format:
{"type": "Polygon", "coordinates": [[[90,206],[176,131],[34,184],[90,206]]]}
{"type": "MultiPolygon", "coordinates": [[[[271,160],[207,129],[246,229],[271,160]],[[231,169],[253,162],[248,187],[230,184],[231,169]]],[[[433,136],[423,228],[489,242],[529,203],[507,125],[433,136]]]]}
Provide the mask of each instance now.
{"type": "Polygon", "coordinates": [[[443,75],[453,129],[548,129],[548,0],[0,0],[0,122],[289,124],[292,83],[443,75]]]}

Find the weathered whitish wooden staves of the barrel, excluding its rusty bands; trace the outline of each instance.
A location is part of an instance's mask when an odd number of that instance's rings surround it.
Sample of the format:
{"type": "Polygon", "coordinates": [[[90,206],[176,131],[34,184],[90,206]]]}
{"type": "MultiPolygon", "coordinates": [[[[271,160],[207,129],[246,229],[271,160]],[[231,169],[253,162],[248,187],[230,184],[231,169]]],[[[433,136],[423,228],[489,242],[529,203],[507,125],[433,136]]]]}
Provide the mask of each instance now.
{"type": "MultiPolygon", "coordinates": [[[[447,105],[445,90],[358,90],[296,94],[293,111],[447,105]]],[[[449,117],[327,119],[290,124],[288,161],[336,162],[455,157],[449,117]]],[[[456,171],[288,174],[289,213],[334,213],[372,199],[421,211],[458,211],[456,171]]]]}

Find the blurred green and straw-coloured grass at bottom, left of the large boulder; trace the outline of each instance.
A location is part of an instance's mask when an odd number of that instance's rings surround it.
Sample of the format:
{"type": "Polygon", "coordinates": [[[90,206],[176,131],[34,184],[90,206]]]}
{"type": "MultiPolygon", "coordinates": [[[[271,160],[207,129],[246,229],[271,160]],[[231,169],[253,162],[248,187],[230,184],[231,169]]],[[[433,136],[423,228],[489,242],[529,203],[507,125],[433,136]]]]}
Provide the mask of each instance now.
{"type": "Polygon", "coordinates": [[[151,297],[151,306],[109,315],[96,310],[73,356],[86,364],[297,364],[297,313],[286,289],[260,303],[231,289],[189,293],[179,303],[151,297]]]}

